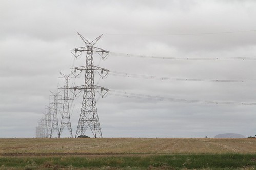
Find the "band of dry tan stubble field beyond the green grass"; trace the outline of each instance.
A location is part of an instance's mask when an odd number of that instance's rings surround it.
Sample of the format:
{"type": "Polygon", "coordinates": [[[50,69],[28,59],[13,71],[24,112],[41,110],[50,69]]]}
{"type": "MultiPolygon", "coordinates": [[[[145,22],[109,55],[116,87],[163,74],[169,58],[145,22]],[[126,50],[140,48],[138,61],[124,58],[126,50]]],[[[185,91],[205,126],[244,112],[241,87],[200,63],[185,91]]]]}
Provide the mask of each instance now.
{"type": "Polygon", "coordinates": [[[255,154],[256,139],[0,139],[0,155],[3,153],[255,154]]]}

